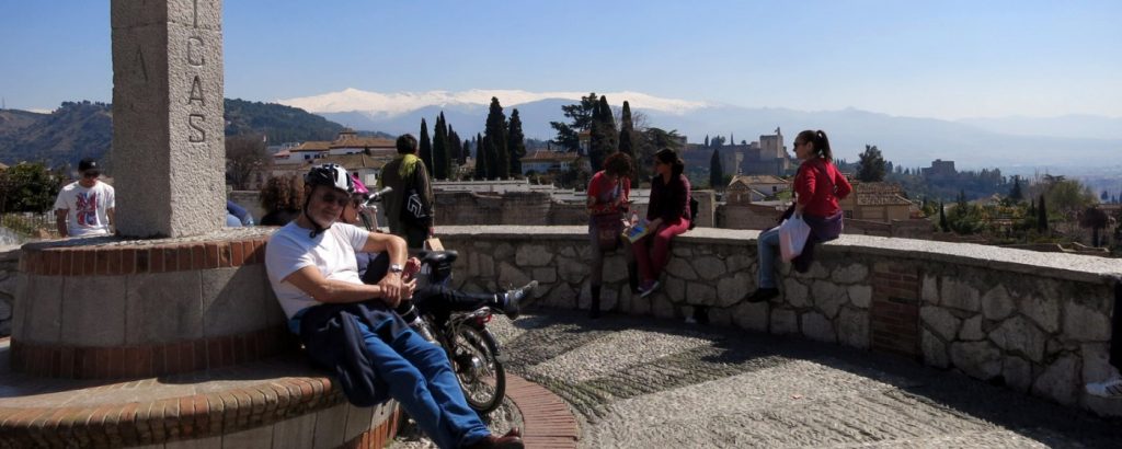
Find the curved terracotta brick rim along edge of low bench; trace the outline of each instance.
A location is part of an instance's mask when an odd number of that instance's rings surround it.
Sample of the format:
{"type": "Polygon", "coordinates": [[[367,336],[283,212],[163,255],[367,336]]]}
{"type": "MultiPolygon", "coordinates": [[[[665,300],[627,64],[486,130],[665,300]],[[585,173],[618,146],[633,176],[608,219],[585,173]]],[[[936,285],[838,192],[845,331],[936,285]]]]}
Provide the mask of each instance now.
{"type": "MultiPolygon", "coordinates": [[[[0,407],[0,448],[125,447],[230,434],[344,403],[328,377],[265,384],[150,402],[58,407],[0,407]]],[[[396,407],[346,448],[380,448],[394,438],[396,407]]]]}

